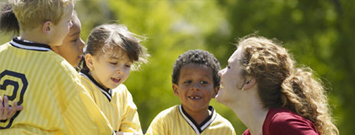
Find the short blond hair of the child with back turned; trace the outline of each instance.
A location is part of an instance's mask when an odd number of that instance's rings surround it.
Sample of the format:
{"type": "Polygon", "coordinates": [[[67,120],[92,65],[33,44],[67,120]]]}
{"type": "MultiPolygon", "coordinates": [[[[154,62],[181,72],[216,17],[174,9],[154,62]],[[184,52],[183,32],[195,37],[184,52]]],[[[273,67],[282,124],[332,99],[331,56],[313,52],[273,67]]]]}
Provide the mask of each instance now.
{"type": "Polygon", "coordinates": [[[66,7],[73,2],[74,0],[9,0],[22,30],[36,28],[46,21],[58,24],[66,7]]]}

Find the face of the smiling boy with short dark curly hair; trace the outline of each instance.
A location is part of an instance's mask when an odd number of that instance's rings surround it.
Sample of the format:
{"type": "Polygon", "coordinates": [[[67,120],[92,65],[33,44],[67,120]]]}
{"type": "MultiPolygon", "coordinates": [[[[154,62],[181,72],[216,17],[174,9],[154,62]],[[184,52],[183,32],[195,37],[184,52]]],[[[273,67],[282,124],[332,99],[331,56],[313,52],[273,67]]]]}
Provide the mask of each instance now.
{"type": "Polygon", "coordinates": [[[173,90],[180,98],[185,111],[191,114],[206,113],[218,88],[213,86],[211,68],[190,63],[181,67],[178,84],[173,84],[173,90]]]}

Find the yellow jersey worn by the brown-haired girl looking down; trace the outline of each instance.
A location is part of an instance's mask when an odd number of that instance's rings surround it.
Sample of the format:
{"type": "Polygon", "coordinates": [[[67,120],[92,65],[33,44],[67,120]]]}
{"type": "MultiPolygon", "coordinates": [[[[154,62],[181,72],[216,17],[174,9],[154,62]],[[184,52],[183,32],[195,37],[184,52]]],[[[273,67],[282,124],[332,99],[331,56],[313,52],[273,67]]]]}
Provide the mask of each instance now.
{"type": "Polygon", "coordinates": [[[115,131],[143,134],[137,107],[124,84],[115,89],[105,89],[88,73],[80,75],[82,84],[91,92],[115,131]]]}

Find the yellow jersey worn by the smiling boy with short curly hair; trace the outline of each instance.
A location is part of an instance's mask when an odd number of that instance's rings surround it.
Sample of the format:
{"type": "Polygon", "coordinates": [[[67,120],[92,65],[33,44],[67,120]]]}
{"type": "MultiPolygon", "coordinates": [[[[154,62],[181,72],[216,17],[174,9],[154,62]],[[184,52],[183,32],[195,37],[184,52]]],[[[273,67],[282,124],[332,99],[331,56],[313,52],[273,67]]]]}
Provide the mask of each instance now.
{"type": "Polygon", "coordinates": [[[227,119],[220,116],[212,106],[208,109],[211,115],[197,125],[181,105],[170,107],[153,119],[146,135],[235,135],[227,119]]]}

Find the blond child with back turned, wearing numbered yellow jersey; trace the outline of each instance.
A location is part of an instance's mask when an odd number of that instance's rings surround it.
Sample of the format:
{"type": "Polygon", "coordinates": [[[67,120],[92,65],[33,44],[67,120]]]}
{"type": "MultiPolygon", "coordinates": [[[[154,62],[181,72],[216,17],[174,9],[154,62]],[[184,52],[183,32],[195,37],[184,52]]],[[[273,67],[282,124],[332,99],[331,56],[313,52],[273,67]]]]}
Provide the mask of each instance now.
{"type": "Polygon", "coordinates": [[[72,25],[73,1],[10,2],[22,33],[0,46],[0,95],[23,110],[0,122],[0,134],[111,134],[74,68],[50,50],[72,25]]]}

